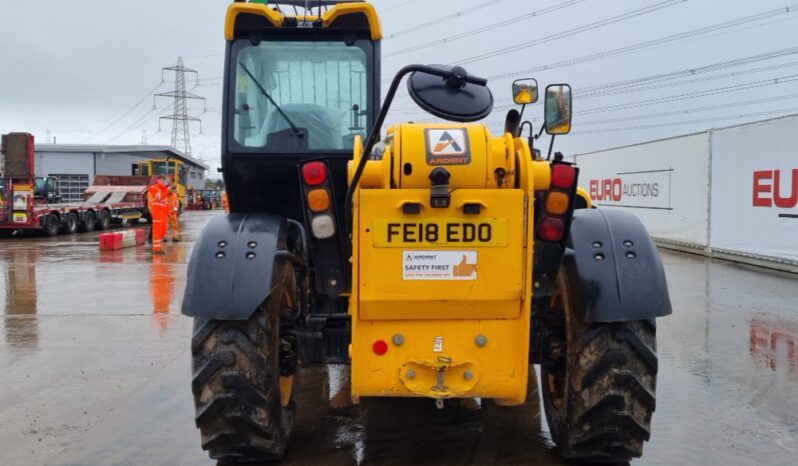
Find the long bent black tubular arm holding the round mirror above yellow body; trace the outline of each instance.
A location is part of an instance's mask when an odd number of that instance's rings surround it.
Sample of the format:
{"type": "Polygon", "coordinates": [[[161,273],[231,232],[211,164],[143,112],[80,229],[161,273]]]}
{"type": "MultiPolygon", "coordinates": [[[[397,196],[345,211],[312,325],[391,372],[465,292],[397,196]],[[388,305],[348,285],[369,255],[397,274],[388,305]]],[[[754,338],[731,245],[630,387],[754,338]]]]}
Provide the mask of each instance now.
{"type": "Polygon", "coordinates": [[[488,84],[488,80],[484,78],[478,78],[476,76],[471,76],[466,71],[456,66],[451,70],[441,70],[439,68],[435,68],[432,66],[426,65],[407,65],[394,76],[393,81],[391,81],[391,87],[388,88],[388,93],[385,95],[385,102],[382,104],[382,108],[380,109],[380,113],[377,115],[377,120],[374,122],[374,128],[371,130],[371,134],[369,134],[368,139],[366,140],[366,146],[363,148],[363,153],[360,156],[360,160],[358,161],[357,168],[355,169],[355,174],[352,177],[352,182],[349,184],[349,187],[346,190],[346,200],[345,202],[345,225],[346,225],[346,232],[352,233],[352,210],[354,205],[352,203],[355,189],[357,189],[358,184],[360,184],[360,178],[363,176],[363,170],[366,168],[366,163],[371,156],[371,151],[374,149],[374,145],[377,144],[379,137],[380,137],[380,130],[382,129],[382,124],[385,122],[385,117],[388,116],[388,109],[391,107],[391,103],[393,103],[393,98],[396,96],[396,91],[399,89],[399,84],[402,82],[402,79],[405,75],[414,72],[421,72],[427,73],[434,76],[440,76],[443,79],[451,82],[463,82],[463,83],[471,83],[476,84],[477,86],[485,86],[488,84]]]}

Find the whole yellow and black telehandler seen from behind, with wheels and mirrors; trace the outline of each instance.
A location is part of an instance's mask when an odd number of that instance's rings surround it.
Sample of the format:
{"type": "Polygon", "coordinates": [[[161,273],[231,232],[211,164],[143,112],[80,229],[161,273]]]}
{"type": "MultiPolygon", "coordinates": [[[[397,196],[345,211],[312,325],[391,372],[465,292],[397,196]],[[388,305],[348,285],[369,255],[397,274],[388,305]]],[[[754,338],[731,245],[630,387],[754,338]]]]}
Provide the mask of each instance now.
{"type": "MultiPolygon", "coordinates": [[[[671,312],[642,224],[589,208],[578,168],[550,160],[551,145],[549,158],[534,156],[533,137],[520,137],[524,107],[501,136],[473,123],[493,96],[460,67],[407,66],[381,106],[381,36],[365,2],[228,10],[231,213],[198,240],[183,300],[202,447],[228,462],[279,459],[308,364],[351,364],[354,402],[439,407],[522,404],[539,364],[564,457],[640,456],[655,405],[654,319],[671,312]],[[444,121],[381,136],[405,78],[444,121]]],[[[513,90],[522,106],[538,98],[534,80],[513,90]]],[[[568,133],[570,87],[549,86],[544,100],[544,129],[568,133]]]]}

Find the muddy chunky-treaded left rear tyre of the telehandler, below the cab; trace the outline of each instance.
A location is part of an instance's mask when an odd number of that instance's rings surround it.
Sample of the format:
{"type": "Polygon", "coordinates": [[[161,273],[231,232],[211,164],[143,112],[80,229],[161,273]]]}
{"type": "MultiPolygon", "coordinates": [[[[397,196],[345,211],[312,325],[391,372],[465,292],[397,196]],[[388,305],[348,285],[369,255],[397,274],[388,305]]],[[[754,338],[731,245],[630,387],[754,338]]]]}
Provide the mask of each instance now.
{"type": "Polygon", "coordinates": [[[192,391],[202,448],[226,463],[267,462],[285,452],[294,424],[295,340],[281,317],[295,305],[286,267],[247,321],[194,319],[192,391]]]}

